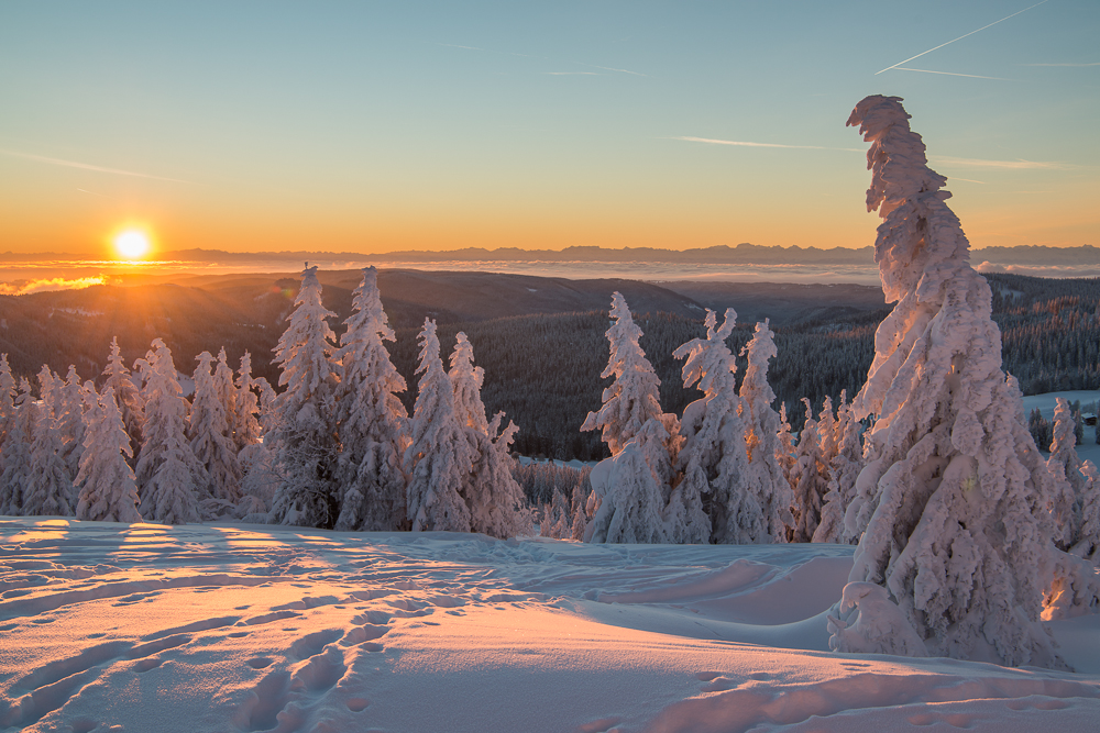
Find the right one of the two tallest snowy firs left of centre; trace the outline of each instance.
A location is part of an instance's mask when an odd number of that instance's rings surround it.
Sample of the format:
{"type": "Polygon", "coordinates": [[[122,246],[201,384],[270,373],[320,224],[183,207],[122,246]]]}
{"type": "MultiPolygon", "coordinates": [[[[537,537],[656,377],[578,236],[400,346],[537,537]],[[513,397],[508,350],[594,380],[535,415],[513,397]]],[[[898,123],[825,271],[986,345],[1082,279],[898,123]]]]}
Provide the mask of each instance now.
{"type": "Polygon", "coordinates": [[[394,331],[382,309],[378,271],[363,269],[352,293],[352,314],[337,358],[343,379],[337,391],[341,502],[338,530],[388,531],[406,526],[408,413],[397,398],[405,378],[389,359],[394,331]]]}

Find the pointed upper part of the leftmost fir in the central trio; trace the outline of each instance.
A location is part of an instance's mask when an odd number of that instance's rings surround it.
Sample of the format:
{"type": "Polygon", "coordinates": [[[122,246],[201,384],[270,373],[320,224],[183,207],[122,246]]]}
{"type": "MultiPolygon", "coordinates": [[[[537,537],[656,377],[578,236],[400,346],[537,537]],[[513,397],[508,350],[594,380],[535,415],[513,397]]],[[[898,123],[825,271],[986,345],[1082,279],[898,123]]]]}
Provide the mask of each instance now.
{"type": "Polygon", "coordinates": [[[675,415],[661,410],[661,380],[639,344],[641,329],[618,292],[612,293],[609,315],[614,319],[606,334],[610,357],[600,377],[612,377],[615,381],[604,389],[603,407],[587,414],[581,430],[601,431],[601,437],[614,456],[651,418],[659,420],[670,436],[675,436],[678,431],[675,415]]]}

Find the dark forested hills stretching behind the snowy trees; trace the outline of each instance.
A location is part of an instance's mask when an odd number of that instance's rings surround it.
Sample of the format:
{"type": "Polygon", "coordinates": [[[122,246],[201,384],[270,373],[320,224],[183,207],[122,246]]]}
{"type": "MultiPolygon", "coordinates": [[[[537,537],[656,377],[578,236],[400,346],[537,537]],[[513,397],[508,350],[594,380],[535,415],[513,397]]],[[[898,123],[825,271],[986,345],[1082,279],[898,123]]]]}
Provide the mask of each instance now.
{"type": "MultiPolygon", "coordinates": [[[[344,330],[360,270],[320,273],[324,304],[344,330]]],[[[1002,331],[1005,370],[1024,393],[1100,388],[1100,280],[987,275],[993,319],[1002,331]]],[[[272,348],[297,292],[296,277],[190,278],[187,286],[97,286],[85,290],[0,298],[0,353],[15,375],[42,364],[59,373],[74,364],[85,378],[99,375],[116,335],[128,364],[161,337],[177,354],[217,353],[231,360],[249,351],[256,376],[277,384],[272,348]]],[[[779,355],[769,373],[794,430],[802,425],[802,397],[821,406],[826,396],[849,398],[867,376],[873,333],[888,309],[880,290],[864,286],[785,284],[666,284],[630,280],[565,280],[486,273],[383,270],[383,303],[397,334],[393,360],[415,400],[416,333],[430,315],[446,353],[464,331],[485,369],[482,392],[490,413],[504,410],[520,431],[515,448],[527,455],[592,459],[605,455],[596,433],[581,433],[601,404],[607,363],[607,307],[619,290],[637,313],[642,348],[661,379],[664,410],[682,413],[696,399],[682,387],[681,344],[703,334],[703,307],[737,309],[729,338],[735,354],[748,342],[757,318],[772,316],[779,355]],[[675,291],[673,291],[675,290],[675,291]]],[[[738,375],[744,374],[744,358],[738,375]]],[[[185,374],[193,365],[177,365],[185,374]]]]}

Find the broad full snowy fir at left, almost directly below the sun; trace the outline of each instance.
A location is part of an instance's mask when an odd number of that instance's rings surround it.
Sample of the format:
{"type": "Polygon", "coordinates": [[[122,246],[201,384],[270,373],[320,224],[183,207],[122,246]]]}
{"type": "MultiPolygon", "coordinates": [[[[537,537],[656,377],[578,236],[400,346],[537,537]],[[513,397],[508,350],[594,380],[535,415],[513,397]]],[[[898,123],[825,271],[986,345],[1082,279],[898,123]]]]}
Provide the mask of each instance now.
{"type": "Polygon", "coordinates": [[[145,402],[141,453],[134,469],[139,511],[153,522],[196,522],[198,501],[209,497],[210,477],[187,444],[190,406],[179,387],[172,351],[154,338],[138,367],[145,402]]]}

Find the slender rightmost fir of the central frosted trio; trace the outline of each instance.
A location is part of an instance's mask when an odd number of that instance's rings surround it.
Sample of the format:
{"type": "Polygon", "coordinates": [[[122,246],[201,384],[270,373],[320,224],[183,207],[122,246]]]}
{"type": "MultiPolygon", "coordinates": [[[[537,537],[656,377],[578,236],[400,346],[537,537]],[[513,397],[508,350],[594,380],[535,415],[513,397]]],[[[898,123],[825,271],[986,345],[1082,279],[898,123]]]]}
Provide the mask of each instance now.
{"type": "Polygon", "coordinates": [[[779,413],[772,409],[776,392],[768,384],[768,360],[776,358],[776,337],[768,321],[757,323],[752,340],[743,352],[748,357],[745,377],[738,397],[741,398],[741,418],[745,420],[745,442],[749,465],[745,474],[745,488],[755,495],[763,515],[762,531],[757,542],[787,542],[788,531],[794,526],[791,504],[794,495],[783,475],[783,467],[776,457],[781,451],[779,442],[779,413]]]}

